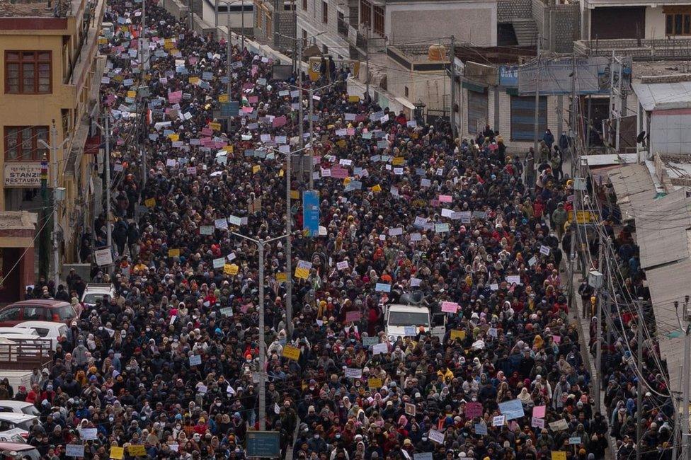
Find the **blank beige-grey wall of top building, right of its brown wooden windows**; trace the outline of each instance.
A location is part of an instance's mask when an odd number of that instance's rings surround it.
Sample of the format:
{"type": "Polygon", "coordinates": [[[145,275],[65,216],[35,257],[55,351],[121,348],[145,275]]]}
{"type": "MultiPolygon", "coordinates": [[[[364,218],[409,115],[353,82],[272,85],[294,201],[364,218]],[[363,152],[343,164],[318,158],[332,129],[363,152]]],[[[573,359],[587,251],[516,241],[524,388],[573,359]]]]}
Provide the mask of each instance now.
{"type": "Polygon", "coordinates": [[[405,43],[454,35],[459,42],[496,46],[496,1],[387,4],[389,42],[405,43]]]}

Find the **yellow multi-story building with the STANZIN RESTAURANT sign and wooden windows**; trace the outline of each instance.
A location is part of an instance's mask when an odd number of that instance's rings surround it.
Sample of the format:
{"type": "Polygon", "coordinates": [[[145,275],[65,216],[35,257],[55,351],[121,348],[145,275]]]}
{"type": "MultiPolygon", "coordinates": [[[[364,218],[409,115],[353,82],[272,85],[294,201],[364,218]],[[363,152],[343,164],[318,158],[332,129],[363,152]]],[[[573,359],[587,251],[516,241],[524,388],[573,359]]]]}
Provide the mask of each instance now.
{"type": "Polygon", "coordinates": [[[57,233],[65,262],[76,258],[79,235],[93,219],[89,198],[98,187],[98,137],[91,136],[91,121],[98,115],[105,64],[98,57],[104,8],[105,0],[0,4],[0,211],[44,207],[40,172],[47,156],[48,187],[57,177],[64,189],[57,233]]]}

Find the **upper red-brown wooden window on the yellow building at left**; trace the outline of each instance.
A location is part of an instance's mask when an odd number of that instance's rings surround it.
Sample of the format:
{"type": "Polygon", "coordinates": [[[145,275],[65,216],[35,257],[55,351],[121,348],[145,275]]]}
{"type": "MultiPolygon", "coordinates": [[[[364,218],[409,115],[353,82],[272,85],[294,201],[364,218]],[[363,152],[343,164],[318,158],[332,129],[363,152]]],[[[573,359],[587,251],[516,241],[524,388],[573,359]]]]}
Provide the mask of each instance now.
{"type": "Polygon", "coordinates": [[[6,94],[52,93],[50,51],[6,51],[6,94]]]}

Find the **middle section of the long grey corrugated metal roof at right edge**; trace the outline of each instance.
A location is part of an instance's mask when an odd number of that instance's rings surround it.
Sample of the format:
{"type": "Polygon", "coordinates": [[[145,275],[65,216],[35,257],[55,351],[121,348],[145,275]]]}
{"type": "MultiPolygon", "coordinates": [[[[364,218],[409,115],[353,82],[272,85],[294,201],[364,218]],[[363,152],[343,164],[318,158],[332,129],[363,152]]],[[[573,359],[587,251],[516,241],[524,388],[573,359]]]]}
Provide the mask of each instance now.
{"type": "Polygon", "coordinates": [[[644,269],[689,257],[691,227],[686,190],[680,189],[666,197],[646,200],[633,205],[636,215],[636,240],[641,248],[644,269]]]}

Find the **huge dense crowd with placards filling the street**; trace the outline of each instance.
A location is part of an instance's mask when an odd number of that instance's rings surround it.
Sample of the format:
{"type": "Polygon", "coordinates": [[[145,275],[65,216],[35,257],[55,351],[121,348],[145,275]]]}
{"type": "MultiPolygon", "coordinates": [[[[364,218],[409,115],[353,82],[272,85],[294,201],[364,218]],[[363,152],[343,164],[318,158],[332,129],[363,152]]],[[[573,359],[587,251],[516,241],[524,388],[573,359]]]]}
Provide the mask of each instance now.
{"type": "MultiPolygon", "coordinates": [[[[620,458],[635,456],[632,337],[605,350],[600,413],[569,311],[560,267],[571,251],[573,180],[552,134],[527,156],[490,127],[455,138],[448,125],[352,97],[348,70],[327,65],[328,79],[303,83],[333,81],[312,101],[320,229],[309,234],[307,177],[288,177],[285,164],[299,150],[307,91],[295,77],[273,79],[273,61],[239,43],[227,75],[227,43],[156,1],[147,1],[144,76],[141,8],[110,1],[104,21],[114,33],[101,45],[115,269],[67,278],[73,302],[84,282],[113,282],[117,294],[84,309],[30,389],[0,384],[6,398],[41,411],[28,442],[43,458],[71,458],[66,446],[84,444],[85,459],[244,459],[260,425],[280,432],[282,458],[294,459],[600,460],[610,436],[620,458]],[[229,100],[239,113],[226,125],[218,113],[229,100]],[[287,274],[277,238],[286,180],[287,274]],[[258,246],[236,234],[277,238],[263,252],[265,369],[258,246]],[[442,309],[445,330],[406,328],[390,340],[384,311],[411,296],[442,309]],[[89,428],[96,439],[85,439],[89,428]]],[[[640,283],[631,243],[619,237],[627,275],[640,283]]],[[[105,246],[105,218],[95,238],[105,246]]],[[[590,302],[587,286],[578,293],[590,302]]],[[[56,295],[52,284],[31,294],[56,295]]],[[[661,378],[645,377],[665,393],[661,378]]],[[[670,411],[657,398],[644,399],[644,459],[669,452],[670,411]]]]}

